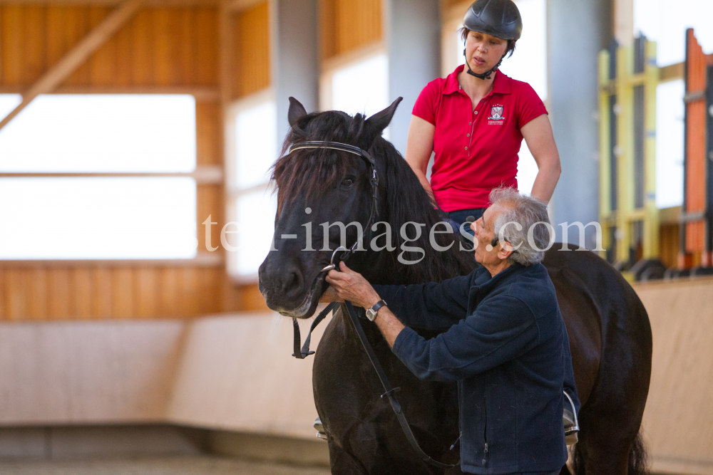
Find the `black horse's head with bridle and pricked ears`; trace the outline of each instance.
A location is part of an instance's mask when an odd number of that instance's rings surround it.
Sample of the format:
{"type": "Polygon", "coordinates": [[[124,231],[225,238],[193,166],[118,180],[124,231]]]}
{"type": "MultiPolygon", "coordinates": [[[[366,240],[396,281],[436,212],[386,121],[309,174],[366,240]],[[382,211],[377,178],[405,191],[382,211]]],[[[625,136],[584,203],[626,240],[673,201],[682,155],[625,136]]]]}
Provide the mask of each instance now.
{"type": "MultiPolygon", "coordinates": [[[[259,273],[260,291],[272,310],[289,317],[312,315],[328,285],[322,269],[339,246],[350,247],[361,238],[372,210],[368,160],[324,147],[286,153],[289,147],[329,141],[369,150],[377,138],[385,142],[381,132],[400,101],[370,118],[361,114],[352,118],[334,110],[307,114],[302,104],[289,98],[287,118],[292,129],[272,173],[277,184],[274,245],[259,273]],[[344,231],[342,226],[346,226],[344,231]]],[[[379,194],[383,196],[383,190],[379,194]]],[[[369,242],[363,246],[367,249],[369,242]]],[[[357,252],[349,265],[363,269],[366,254],[357,252]]]]}

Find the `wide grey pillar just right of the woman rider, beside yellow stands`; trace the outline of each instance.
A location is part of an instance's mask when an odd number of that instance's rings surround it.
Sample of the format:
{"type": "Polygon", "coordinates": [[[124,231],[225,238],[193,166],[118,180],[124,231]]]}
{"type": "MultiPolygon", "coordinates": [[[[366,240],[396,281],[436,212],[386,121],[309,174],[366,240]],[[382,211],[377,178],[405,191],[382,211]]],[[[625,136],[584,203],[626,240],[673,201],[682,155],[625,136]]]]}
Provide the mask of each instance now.
{"type": "MultiPolygon", "coordinates": [[[[562,162],[552,202],[558,241],[563,221],[599,219],[597,53],[611,38],[609,1],[548,0],[550,121],[562,162]]],[[[593,249],[592,226],[586,234],[593,249]]],[[[568,241],[578,244],[577,229],[569,229],[568,241]]]]}

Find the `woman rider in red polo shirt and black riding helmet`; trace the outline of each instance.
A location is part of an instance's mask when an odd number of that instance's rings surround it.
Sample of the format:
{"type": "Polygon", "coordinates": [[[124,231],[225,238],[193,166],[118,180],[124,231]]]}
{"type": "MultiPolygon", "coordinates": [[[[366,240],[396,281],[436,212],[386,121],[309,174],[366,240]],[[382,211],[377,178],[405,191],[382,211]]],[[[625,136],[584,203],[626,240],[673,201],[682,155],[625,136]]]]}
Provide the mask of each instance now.
{"type": "Polygon", "coordinates": [[[560,177],[545,105],[528,83],[498,71],[522,29],[512,0],[477,0],[461,28],[466,64],[431,81],[414,105],[406,162],[458,225],[467,216],[481,217],[492,189],[517,188],[523,137],[538,165],[532,196],[549,202],[560,177]],[[429,183],[431,152],[435,160],[429,183]]]}

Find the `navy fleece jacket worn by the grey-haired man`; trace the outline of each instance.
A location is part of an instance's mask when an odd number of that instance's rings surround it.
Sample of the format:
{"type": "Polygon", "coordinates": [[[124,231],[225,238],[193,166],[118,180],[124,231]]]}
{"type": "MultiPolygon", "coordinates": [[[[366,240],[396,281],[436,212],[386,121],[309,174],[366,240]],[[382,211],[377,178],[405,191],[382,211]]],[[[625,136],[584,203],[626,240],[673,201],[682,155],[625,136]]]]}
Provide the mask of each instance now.
{"type": "Polygon", "coordinates": [[[567,330],[542,264],[374,289],[407,325],[396,356],[422,379],[458,382],[464,472],[537,473],[565,464],[563,388],[577,409],[579,401],[567,330]],[[426,340],[409,327],[444,333],[426,340]]]}

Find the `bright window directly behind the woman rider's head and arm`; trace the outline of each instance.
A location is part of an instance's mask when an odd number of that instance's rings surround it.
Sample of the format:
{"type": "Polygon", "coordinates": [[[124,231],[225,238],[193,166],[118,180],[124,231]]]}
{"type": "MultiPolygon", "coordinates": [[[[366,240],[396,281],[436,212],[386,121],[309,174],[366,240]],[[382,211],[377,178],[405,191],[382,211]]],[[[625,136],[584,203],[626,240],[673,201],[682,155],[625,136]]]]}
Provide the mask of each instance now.
{"type": "MultiPolygon", "coordinates": [[[[546,0],[515,0],[523,17],[523,36],[518,40],[515,53],[503,60],[501,71],[513,79],[530,84],[543,101],[548,98],[547,87],[547,2],[546,0]]],[[[456,32],[456,57],[458,64],[466,62],[463,57],[463,41],[456,32]]],[[[523,140],[518,160],[518,188],[529,194],[532,191],[538,167],[523,140]]]]}

